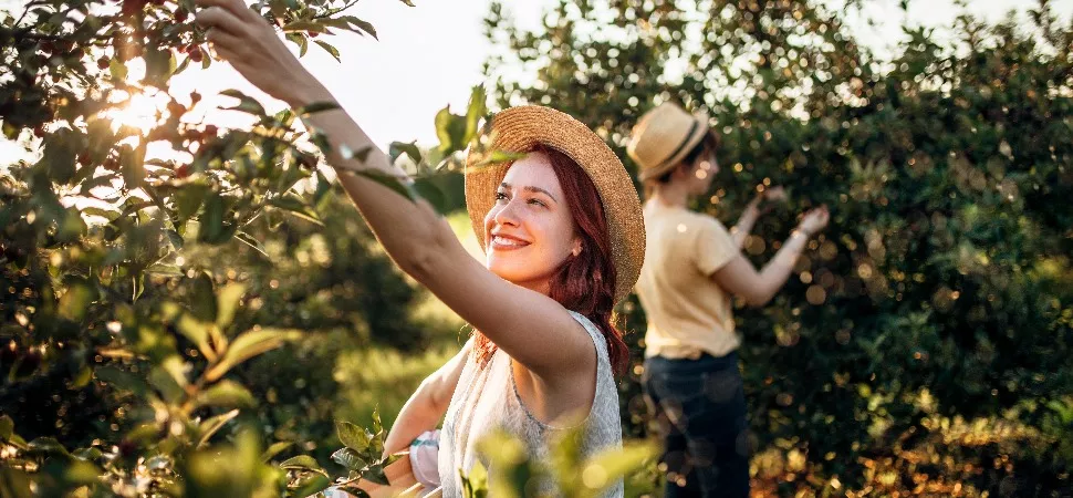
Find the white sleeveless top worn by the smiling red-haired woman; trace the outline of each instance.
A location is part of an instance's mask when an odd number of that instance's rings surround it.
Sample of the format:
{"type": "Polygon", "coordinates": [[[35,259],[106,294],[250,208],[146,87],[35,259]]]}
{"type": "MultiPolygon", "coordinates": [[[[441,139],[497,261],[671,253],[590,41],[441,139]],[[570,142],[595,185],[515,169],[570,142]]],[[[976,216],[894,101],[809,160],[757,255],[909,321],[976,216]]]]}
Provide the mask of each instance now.
{"type": "MultiPolygon", "coordinates": [[[[570,314],[585,328],[596,347],[596,394],[584,421],[587,430],[582,442],[582,454],[587,457],[622,446],[618,390],[603,334],[581,313],[571,311],[570,314]]],[[[507,353],[497,350],[483,369],[477,365],[476,356],[470,354],[466,360],[440,435],[438,467],[445,498],[462,496],[459,470],[468,474],[478,460],[488,468],[488,461],[477,454],[475,445],[490,430],[506,429],[523,440],[534,458],[546,460],[549,443],[564,429],[538,421],[525,407],[507,353]]],[[[554,489],[550,491],[558,495],[554,489]]],[[[623,496],[622,480],[604,496],[623,496]]]]}

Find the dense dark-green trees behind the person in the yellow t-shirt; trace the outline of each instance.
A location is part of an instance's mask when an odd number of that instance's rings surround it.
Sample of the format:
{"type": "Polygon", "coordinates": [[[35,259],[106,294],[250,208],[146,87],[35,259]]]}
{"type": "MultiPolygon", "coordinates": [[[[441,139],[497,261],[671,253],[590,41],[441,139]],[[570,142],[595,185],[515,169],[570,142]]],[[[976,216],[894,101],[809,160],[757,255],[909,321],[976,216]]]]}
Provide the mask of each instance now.
{"type": "MultiPolygon", "coordinates": [[[[1023,23],[959,17],[949,43],[907,25],[878,59],[844,13],[562,1],[524,32],[494,6],[490,93],[577,116],[624,159],[659,102],[708,113],[721,172],[698,209],[731,226],[757,191],[791,195],[748,240],[758,264],[831,207],[780,297],[737,311],[759,492],[1069,495],[1073,24],[1041,1],[1023,23]]],[[[643,310],[622,311],[639,354],[643,310]]]]}

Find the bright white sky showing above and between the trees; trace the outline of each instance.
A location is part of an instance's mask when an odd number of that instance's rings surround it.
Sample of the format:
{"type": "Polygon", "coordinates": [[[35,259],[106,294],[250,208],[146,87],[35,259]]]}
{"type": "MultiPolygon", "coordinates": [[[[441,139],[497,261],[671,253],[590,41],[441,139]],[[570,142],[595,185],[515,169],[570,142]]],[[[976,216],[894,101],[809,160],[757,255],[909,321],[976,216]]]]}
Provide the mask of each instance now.
{"type": "MultiPolygon", "coordinates": [[[[843,0],[822,0],[841,6],[843,0]]],[[[460,111],[470,89],[482,83],[481,64],[492,46],[482,34],[482,20],[489,0],[415,0],[416,8],[398,0],[363,0],[348,13],[376,27],[379,41],[355,34],[332,39],[342,54],[342,64],[311,44],[305,64],[336,95],[342,106],[383,146],[393,141],[436,144],[433,117],[445,105],[460,111]]],[[[507,2],[507,10],[524,28],[539,25],[541,12],[554,0],[507,2]]],[[[878,53],[894,46],[908,21],[929,27],[949,24],[960,11],[954,0],[911,0],[908,13],[898,0],[865,0],[864,13],[879,24],[873,29],[854,15],[846,22],[865,45],[878,53]]],[[[1055,13],[1069,22],[1073,2],[1052,2],[1055,13]]],[[[11,8],[10,1],[0,6],[11,8]]],[[[999,20],[1010,9],[1025,10],[1035,0],[973,0],[969,11],[988,20],[999,20]]],[[[325,40],[325,38],[320,38],[325,40]]],[[[197,90],[204,95],[237,87],[261,95],[226,64],[208,71],[187,70],[173,80],[173,94],[197,90]]],[[[229,102],[217,101],[217,102],[229,102]]],[[[279,103],[262,98],[270,110],[279,103]]],[[[211,103],[211,102],[207,102],[211,103]]],[[[0,158],[22,155],[21,147],[0,143],[0,158]]]]}

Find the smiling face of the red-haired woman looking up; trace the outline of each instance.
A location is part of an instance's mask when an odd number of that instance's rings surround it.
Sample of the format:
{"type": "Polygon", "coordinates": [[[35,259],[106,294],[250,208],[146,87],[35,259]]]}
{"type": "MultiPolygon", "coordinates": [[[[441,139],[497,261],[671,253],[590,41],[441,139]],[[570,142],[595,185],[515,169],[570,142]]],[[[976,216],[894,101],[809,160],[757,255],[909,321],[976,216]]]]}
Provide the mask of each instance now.
{"type": "Polygon", "coordinates": [[[544,153],[518,159],[485,216],[485,264],[493,273],[538,292],[566,258],[581,250],[562,185],[544,153]]]}

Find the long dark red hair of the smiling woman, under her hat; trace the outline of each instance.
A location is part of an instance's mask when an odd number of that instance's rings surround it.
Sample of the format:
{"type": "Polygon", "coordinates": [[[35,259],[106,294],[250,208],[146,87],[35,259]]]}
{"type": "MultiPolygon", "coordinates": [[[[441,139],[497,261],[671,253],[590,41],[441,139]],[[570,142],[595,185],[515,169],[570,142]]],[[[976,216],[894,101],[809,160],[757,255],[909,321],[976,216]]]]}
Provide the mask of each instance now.
{"type": "MultiPolygon", "coordinates": [[[[563,308],[583,314],[604,335],[611,366],[616,376],[629,367],[629,350],[622,331],[614,325],[615,272],[607,235],[607,217],[600,193],[588,175],[570,156],[545,145],[536,145],[529,153],[543,153],[559,177],[566,206],[574,219],[582,250],[571,256],[552,276],[549,295],[563,308]]],[[[496,352],[496,344],[480,331],[475,331],[475,353],[478,364],[486,364],[496,352]]]]}

